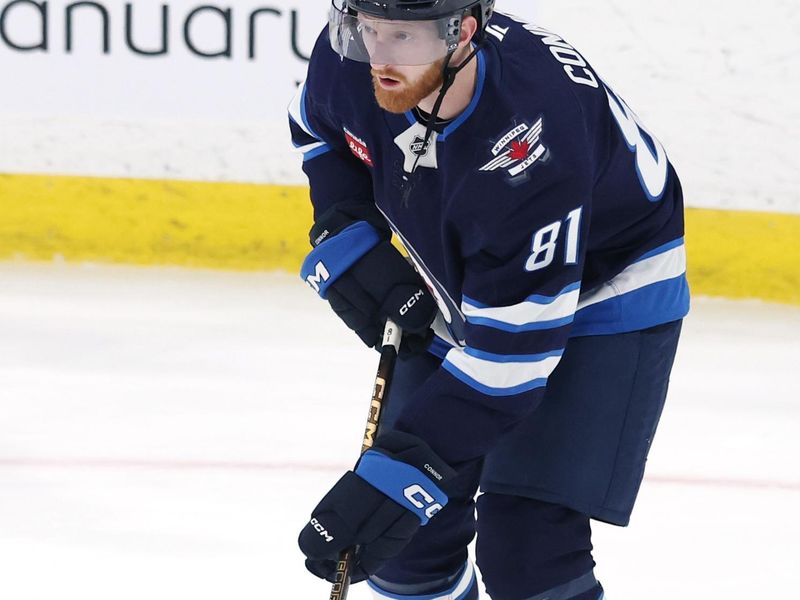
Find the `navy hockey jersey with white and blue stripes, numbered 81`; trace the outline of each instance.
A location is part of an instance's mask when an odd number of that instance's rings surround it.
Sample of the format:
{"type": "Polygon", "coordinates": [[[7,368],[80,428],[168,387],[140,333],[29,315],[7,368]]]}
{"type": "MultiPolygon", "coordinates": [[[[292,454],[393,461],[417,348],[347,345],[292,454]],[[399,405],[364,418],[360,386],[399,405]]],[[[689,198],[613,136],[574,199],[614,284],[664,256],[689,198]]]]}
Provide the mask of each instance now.
{"type": "Polygon", "coordinates": [[[570,337],[689,309],[661,143],[561,37],[502,14],[487,33],[472,103],[426,148],[425,126],[382,110],[369,65],[325,32],[290,107],[316,214],[374,202],[436,297],[442,366],[397,426],[451,463],[536,406],[570,337]]]}

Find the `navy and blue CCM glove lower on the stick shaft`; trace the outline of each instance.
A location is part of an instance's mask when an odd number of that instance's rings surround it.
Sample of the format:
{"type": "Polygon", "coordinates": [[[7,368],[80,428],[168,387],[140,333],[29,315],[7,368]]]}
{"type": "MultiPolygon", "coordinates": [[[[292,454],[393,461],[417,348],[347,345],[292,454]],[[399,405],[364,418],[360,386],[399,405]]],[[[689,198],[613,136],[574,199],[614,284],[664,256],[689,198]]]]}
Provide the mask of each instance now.
{"type": "Polygon", "coordinates": [[[352,581],[368,578],[447,504],[442,486],[454,476],[416,436],[380,436],[355,472],[348,471],[317,505],[300,533],[306,568],[333,583],[339,554],[355,548],[352,581]]]}

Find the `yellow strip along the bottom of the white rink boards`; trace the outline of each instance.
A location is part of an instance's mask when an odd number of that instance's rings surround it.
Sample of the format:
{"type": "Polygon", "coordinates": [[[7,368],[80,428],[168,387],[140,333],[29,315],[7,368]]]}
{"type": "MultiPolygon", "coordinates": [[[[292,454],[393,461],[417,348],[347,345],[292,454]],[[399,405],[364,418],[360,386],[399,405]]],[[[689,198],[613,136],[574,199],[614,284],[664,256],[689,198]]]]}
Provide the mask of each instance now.
{"type": "MultiPolygon", "coordinates": [[[[297,272],[308,189],[0,175],[0,259],[297,272]]],[[[694,293],[800,304],[800,215],[688,209],[694,293]]]]}

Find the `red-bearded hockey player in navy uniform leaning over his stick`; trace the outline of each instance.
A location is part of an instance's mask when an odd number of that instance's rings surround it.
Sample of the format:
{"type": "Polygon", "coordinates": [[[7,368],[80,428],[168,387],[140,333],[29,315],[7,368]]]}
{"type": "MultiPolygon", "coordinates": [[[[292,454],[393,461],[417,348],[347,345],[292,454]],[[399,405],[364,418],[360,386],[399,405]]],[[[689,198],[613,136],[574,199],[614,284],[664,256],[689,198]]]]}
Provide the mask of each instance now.
{"type": "Polygon", "coordinates": [[[367,345],[406,332],[383,433],[300,535],[308,569],[356,547],[377,598],[475,599],[477,532],[495,600],[601,598],[590,520],[628,524],[689,309],[661,143],[494,0],[334,0],[290,116],[303,278],[367,345]]]}

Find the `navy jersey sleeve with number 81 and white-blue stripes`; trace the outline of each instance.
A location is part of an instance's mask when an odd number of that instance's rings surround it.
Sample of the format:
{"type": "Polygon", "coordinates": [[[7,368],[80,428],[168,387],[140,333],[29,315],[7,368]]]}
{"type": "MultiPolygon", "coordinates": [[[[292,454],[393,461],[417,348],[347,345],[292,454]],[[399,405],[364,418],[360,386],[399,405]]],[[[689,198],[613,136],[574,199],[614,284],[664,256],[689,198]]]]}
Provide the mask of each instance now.
{"type": "Polygon", "coordinates": [[[486,225],[473,229],[461,299],[464,345],[447,352],[396,424],[450,464],[485,455],[533,411],[564,353],[592,210],[592,161],[581,135],[554,142],[528,189],[506,206],[501,194],[492,198],[482,213],[486,225]]]}

